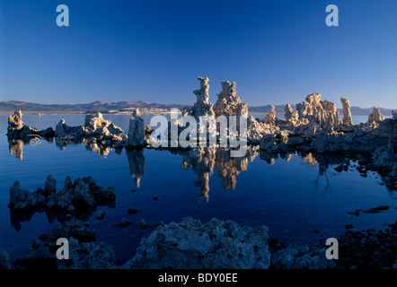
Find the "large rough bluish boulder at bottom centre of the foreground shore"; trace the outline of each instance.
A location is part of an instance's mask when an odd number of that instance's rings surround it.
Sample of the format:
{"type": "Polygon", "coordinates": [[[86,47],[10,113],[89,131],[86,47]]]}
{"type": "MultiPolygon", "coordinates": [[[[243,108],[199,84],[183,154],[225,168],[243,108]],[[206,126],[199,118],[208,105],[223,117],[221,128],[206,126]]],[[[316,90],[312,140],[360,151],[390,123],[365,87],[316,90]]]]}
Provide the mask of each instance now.
{"type": "Polygon", "coordinates": [[[241,227],[212,219],[206,224],[185,218],[157,227],[142,239],[124,268],[267,269],[268,227],[241,227]]]}

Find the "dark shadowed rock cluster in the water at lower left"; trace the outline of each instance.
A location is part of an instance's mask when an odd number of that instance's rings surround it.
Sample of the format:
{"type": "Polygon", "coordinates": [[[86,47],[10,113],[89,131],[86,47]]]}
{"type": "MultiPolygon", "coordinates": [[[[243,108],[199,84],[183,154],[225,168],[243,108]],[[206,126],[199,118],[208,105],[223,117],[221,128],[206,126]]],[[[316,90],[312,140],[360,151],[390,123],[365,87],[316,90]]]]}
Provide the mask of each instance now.
{"type": "Polygon", "coordinates": [[[115,204],[115,187],[100,187],[93,178],[77,178],[72,184],[66,177],[65,187],[56,191],[57,181],[51,175],[46,180],[44,189],[38,187],[33,192],[20,188],[19,181],[10,187],[11,223],[16,230],[21,229],[20,222],[29,221],[35,212],[45,211],[49,220],[57,217],[59,222],[71,216],[85,219],[91,215],[97,205],[113,206],[115,204]]]}

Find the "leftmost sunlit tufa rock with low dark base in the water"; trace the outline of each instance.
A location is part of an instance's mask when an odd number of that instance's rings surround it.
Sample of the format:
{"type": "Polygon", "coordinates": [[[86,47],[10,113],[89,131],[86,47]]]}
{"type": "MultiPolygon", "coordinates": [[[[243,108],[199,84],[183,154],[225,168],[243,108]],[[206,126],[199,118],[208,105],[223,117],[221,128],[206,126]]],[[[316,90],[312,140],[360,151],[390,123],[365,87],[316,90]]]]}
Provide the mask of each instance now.
{"type": "Polygon", "coordinates": [[[22,122],[22,111],[17,109],[13,115],[8,117],[7,136],[9,139],[31,139],[35,135],[39,135],[45,138],[51,138],[54,136],[54,130],[52,127],[38,131],[36,128],[26,126],[22,122]]]}

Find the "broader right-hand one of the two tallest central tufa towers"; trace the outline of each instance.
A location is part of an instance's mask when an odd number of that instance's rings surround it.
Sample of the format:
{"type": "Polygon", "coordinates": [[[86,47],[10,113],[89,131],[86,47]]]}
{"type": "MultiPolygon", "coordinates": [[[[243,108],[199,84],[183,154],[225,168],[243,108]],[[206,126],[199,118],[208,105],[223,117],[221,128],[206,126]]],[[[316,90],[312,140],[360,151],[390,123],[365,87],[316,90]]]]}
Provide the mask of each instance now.
{"type": "Polygon", "coordinates": [[[214,106],[216,117],[225,116],[248,116],[248,107],[246,103],[240,100],[235,91],[235,82],[221,82],[222,91],[217,93],[217,100],[214,106]]]}

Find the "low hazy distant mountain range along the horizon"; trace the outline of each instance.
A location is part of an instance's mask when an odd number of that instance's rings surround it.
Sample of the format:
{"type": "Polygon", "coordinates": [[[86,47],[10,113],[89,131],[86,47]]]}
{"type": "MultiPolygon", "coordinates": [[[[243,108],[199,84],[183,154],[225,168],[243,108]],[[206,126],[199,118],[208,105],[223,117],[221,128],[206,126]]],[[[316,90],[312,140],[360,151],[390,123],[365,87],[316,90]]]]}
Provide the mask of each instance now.
{"type": "MultiPolygon", "coordinates": [[[[91,103],[86,104],[38,104],[33,102],[26,102],[26,101],[18,101],[18,100],[7,100],[7,101],[0,101],[0,112],[4,113],[11,113],[16,109],[21,109],[22,112],[40,112],[40,113],[69,113],[69,112],[109,112],[115,110],[125,110],[131,108],[146,108],[146,109],[183,109],[191,107],[189,105],[181,105],[181,104],[159,104],[154,102],[148,102],[145,100],[138,100],[138,101],[118,101],[118,102],[111,102],[107,103],[104,101],[94,101],[91,103]]],[[[295,105],[291,105],[293,109],[295,109],[295,105]]],[[[276,105],[276,113],[284,114],[285,113],[285,105],[276,105]]],[[[270,105],[260,106],[260,107],[248,107],[248,110],[251,114],[254,113],[267,113],[269,112],[270,105]]],[[[367,116],[372,113],[371,108],[359,108],[359,107],[351,107],[351,113],[355,116],[367,116]]],[[[341,109],[339,109],[340,112],[341,109]]],[[[380,111],[385,116],[392,115],[392,109],[384,109],[380,108],[380,111]]]]}

